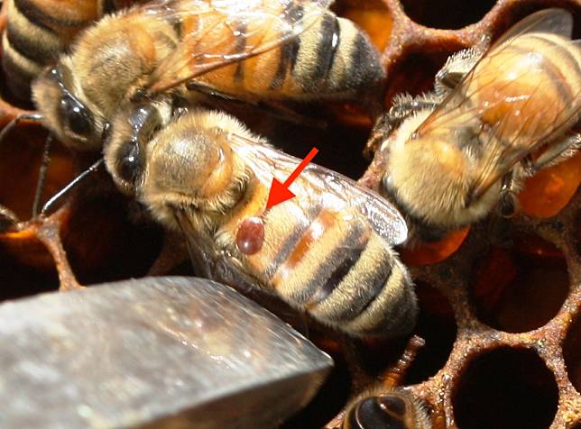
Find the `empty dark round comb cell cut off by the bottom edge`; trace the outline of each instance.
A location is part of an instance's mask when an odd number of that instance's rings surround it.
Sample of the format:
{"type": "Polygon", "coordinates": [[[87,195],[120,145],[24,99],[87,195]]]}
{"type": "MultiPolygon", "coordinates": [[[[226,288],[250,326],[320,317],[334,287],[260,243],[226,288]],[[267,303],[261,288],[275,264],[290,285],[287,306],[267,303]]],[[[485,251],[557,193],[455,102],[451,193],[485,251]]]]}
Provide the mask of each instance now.
{"type": "Polygon", "coordinates": [[[558,388],[534,351],[504,347],[468,362],[452,402],[462,429],[546,429],[557,412],[558,388]]]}

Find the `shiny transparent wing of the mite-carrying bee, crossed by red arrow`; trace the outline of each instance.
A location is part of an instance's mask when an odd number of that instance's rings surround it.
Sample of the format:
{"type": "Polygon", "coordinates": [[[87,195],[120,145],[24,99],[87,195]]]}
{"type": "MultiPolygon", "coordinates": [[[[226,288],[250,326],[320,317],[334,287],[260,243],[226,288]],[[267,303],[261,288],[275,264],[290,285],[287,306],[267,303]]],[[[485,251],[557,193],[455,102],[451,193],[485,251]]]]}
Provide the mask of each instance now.
{"type": "MultiPolygon", "coordinates": [[[[267,189],[270,189],[273,178],[284,182],[300,163],[299,159],[261,141],[233,133],[228,134],[228,141],[236,155],[244,160],[267,189]]],[[[309,164],[289,189],[295,196],[281,203],[288,205],[289,210],[296,208],[300,213],[308,213],[314,206],[323,206],[343,216],[346,221],[353,216],[361,216],[375,233],[391,245],[401,244],[408,238],[407,224],[395,206],[336,171],[309,164]]]]}

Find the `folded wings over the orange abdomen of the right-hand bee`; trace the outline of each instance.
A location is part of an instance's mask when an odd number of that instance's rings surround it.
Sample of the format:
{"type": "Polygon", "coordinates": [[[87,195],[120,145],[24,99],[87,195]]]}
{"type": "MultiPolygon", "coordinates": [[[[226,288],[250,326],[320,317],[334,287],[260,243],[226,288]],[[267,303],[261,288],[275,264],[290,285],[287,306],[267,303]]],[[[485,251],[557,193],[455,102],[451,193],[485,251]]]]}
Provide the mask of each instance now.
{"type": "MultiPolygon", "coordinates": [[[[523,43],[525,34],[568,37],[571,28],[572,18],[562,9],[544,10],[517,23],[420,124],[416,134],[425,141],[454,135],[466,127],[475,130],[481,141],[478,149],[486,150],[471,185],[473,197],[482,196],[516,163],[576,121],[581,75],[576,72],[564,78],[549,72],[553,61],[563,57],[563,47],[554,43],[520,51],[521,45],[534,46],[535,35],[523,43]],[[519,43],[519,49],[512,49],[514,43],[519,43]],[[561,96],[547,96],[555,93],[561,96]]],[[[579,41],[559,40],[571,50],[580,49],[579,41]]]]}

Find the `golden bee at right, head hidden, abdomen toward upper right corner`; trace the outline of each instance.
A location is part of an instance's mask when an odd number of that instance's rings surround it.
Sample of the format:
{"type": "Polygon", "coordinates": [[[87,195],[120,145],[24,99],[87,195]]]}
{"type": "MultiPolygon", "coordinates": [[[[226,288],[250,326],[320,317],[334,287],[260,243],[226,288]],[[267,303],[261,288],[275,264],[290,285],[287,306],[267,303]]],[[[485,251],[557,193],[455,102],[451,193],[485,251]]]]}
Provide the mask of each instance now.
{"type": "Polygon", "coordinates": [[[472,224],[494,205],[516,210],[524,178],[573,154],[581,108],[581,41],[573,20],[546,9],[482,55],[466,50],[438,72],[436,90],[401,96],[383,118],[383,192],[420,236],[472,224]],[[399,126],[397,126],[399,125],[399,126]]]}

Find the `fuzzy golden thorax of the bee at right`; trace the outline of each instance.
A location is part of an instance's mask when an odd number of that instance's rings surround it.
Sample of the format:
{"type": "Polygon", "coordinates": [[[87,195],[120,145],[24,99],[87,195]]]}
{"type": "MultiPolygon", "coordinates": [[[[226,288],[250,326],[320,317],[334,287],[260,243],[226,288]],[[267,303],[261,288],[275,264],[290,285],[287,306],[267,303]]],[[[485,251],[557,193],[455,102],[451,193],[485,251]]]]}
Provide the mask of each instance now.
{"type": "Polygon", "coordinates": [[[469,201],[475,170],[456,135],[430,132],[411,138],[430,114],[420,112],[401,124],[389,141],[385,187],[408,215],[438,228],[456,229],[484,217],[498,197],[498,185],[469,201]]]}

